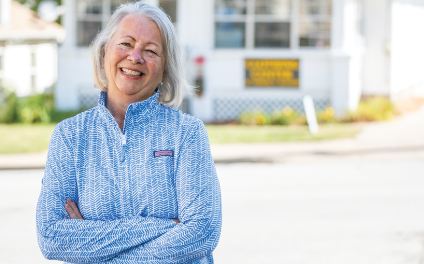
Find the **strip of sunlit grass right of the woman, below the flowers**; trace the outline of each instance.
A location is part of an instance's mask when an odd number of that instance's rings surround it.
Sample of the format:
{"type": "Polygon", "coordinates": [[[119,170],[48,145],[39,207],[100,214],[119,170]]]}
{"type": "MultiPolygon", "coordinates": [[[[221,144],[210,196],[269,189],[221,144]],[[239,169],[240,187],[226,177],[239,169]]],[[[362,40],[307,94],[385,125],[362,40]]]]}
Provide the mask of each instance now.
{"type": "Polygon", "coordinates": [[[361,131],[358,123],[322,124],[311,135],[308,126],[207,125],[211,144],[253,143],[351,138],[361,131]]]}

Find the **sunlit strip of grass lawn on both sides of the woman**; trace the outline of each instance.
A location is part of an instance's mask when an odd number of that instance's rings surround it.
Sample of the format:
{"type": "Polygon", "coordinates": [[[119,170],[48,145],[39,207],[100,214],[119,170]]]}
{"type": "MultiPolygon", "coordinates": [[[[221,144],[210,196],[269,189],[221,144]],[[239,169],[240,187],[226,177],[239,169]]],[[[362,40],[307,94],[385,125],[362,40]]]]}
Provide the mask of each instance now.
{"type": "MultiPolygon", "coordinates": [[[[0,124],[0,153],[26,153],[47,150],[51,125],[0,124]]],[[[317,135],[307,126],[207,125],[211,144],[320,140],[354,137],[361,124],[320,125],[317,135]]]]}

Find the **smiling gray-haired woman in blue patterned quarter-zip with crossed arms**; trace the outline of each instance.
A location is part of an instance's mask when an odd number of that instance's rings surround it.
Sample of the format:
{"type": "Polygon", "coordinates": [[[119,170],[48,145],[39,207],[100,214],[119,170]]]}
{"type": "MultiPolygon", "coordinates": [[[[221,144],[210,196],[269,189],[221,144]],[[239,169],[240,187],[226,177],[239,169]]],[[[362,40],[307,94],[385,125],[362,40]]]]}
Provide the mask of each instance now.
{"type": "Polygon", "coordinates": [[[37,204],[47,259],[213,263],[220,188],[175,28],[157,7],[121,5],[91,45],[99,105],[60,122],[37,204]]]}

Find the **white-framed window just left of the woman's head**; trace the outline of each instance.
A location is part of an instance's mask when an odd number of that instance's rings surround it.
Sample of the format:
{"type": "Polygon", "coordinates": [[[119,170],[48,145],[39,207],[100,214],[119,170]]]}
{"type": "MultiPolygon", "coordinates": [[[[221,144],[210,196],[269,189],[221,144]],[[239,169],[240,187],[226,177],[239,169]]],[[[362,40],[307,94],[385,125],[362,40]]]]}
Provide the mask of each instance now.
{"type": "Polygon", "coordinates": [[[77,0],[77,36],[78,46],[88,46],[109,21],[110,14],[122,3],[135,0],[77,0]]]}

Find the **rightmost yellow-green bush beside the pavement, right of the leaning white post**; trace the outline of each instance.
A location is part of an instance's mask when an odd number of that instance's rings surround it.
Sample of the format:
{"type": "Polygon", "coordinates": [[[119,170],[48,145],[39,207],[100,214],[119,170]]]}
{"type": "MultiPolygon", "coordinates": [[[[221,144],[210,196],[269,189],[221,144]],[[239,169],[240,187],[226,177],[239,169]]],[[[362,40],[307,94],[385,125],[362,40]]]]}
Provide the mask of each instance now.
{"type": "Polygon", "coordinates": [[[385,97],[373,97],[360,101],[356,111],[350,111],[342,118],[344,122],[385,121],[393,118],[395,105],[385,97]]]}

